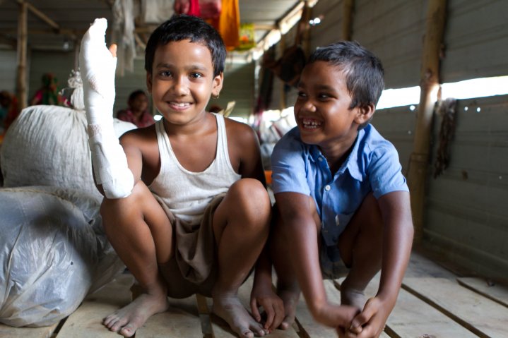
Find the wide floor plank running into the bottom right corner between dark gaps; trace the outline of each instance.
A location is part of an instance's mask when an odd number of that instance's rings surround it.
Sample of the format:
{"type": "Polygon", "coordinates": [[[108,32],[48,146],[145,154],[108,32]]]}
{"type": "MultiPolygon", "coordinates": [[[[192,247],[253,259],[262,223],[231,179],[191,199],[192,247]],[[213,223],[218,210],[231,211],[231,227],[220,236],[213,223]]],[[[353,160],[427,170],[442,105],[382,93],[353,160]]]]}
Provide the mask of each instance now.
{"type": "Polygon", "coordinates": [[[447,278],[406,278],[403,287],[480,337],[507,337],[508,309],[447,278]]]}

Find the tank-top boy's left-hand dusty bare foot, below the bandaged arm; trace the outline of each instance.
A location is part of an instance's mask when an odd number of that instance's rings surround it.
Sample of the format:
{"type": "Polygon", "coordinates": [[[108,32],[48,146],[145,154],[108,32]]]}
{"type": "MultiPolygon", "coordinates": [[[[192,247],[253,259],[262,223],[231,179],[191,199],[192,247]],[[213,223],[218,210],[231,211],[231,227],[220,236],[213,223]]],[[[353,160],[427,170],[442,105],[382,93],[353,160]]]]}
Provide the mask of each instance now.
{"type": "Polygon", "coordinates": [[[166,296],[141,294],[129,305],[104,318],[102,324],[124,337],[132,337],[151,315],[163,312],[168,307],[166,296]]]}

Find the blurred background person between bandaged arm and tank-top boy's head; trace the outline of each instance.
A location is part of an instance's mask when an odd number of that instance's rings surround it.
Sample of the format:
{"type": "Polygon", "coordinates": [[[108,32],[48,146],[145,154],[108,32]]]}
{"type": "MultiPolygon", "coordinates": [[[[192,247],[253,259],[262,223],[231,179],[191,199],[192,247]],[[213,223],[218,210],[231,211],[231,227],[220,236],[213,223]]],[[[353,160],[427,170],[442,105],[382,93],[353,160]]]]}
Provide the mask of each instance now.
{"type": "Polygon", "coordinates": [[[143,90],[131,92],[127,100],[127,109],[118,111],[117,119],[134,123],[138,128],[148,127],[155,123],[148,111],[148,95],[143,90]]]}

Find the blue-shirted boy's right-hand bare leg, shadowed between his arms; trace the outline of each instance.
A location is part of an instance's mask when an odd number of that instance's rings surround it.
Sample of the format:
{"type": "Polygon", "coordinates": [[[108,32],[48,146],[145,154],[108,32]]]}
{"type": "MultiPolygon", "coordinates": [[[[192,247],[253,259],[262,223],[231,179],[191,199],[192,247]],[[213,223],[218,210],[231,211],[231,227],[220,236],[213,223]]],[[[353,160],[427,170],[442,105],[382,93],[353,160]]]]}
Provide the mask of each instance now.
{"type": "Polygon", "coordinates": [[[350,272],[341,285],[341,303],[365,306],[365,288],[381,269],[382,217],[374,195],[370,193],[355,212],[338,239],[338,247],[350,272]]]}

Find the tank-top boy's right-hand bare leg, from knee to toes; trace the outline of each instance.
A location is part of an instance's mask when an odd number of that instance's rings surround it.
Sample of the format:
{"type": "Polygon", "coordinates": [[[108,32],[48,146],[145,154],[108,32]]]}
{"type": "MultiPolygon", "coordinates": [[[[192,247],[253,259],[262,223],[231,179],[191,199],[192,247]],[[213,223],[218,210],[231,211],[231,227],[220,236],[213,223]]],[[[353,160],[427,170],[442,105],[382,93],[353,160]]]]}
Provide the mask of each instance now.
{"type": "Polygon", "coordinates": [[[268,238],[270,199],[254,179],[235,182],[213,217],[218,243],[218,278],[213,286],[213,312],[240,337],[263,336],[262,325],[237,296],[268,238]]]}

